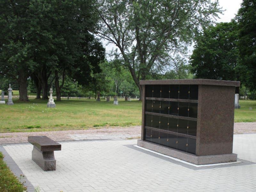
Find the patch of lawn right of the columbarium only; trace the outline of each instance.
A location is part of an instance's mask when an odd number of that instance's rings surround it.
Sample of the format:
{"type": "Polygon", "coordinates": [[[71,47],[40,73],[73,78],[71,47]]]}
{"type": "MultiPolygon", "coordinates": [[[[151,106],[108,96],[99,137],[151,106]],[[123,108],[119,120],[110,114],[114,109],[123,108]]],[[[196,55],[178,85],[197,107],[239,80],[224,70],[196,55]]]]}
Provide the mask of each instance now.
{"type": "Polygon", "coordinates": [[[235,109],[235,122],[256,122],[256,100],[239,100],[239,104],[241,108],[235,109]]]}

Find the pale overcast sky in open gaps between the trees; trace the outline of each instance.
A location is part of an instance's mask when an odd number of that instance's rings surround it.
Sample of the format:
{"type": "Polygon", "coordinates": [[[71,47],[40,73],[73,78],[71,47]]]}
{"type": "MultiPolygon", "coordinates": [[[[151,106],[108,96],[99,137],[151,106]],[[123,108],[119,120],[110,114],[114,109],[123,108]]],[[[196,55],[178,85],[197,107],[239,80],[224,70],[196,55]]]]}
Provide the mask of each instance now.
{"type": "MultiPolygon", "coordinates": [[[[240,4],[242,3],[242,0],[219,0],[220,7],[222,7],[223,10],[226,10],[223,12],[223,14],[220,14],[219,17],[220,19],[217,19],[216,22],[229,22],[231,19],[233,19],[240,8],[240,4]]],[[[106,48],[106,53],[107,53],[107,59],[111,59],[108,56],[108,53],[114,48],[116,49],[117,47],[114,46],[113,44],[108,44],[108,42],[103,40],[102,41],[103,46],[106,48]]],[[[188,47],[188,51],[192,53],[193,51],[193,45],[191,47],[188,47]]]]}

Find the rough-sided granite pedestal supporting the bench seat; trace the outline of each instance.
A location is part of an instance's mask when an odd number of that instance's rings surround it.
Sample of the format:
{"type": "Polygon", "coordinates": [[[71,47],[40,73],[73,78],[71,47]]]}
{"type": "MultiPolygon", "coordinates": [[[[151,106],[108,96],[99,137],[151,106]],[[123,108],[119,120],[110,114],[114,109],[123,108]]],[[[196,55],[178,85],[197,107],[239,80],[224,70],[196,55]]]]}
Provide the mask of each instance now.
{"type": "Polygon", "coordinates": [[[56,160],[54,151],[39,151],[35,146],[32,150],[32,160],[36,162],[44,171],[56,170],[56,160]]]}

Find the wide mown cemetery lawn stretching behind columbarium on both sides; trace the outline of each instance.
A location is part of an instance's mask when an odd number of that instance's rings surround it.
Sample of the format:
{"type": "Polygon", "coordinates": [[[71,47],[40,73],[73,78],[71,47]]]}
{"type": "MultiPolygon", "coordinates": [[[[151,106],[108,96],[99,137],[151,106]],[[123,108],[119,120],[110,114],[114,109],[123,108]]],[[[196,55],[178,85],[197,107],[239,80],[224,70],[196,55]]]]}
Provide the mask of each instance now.
{"type": "MultiPolygon", "coordinates": [[[[73,99],[56,102],[56,108],[46,108],[46,100],[0,105],[0,132],[35,132],[127,126],[141,124],[141,101],[73,99]]],[[[240,100],[235,109],[235,122],[256,122],[256,101],[240,100]],[[249,110],[252,107],[252,110],[249,110]]]]}

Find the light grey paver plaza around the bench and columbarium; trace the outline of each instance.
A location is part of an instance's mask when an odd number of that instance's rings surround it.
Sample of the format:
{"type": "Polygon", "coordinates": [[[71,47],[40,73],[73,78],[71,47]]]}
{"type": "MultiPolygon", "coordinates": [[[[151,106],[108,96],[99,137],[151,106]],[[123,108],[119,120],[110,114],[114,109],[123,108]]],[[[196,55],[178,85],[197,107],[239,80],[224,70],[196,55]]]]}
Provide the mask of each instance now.
{"type": "MultiPolygon", "coordinates": [[[[78,191],[255,191],[256,134],[234,135],[242,163],[194,167],[134,147],[137,140],[61,142],[56,171],[31,160],[31,144],[6,145],[33,186],[42,192],[78,191]]],[[[0,148],[1,149],[1,148],[0,148]]]]}

